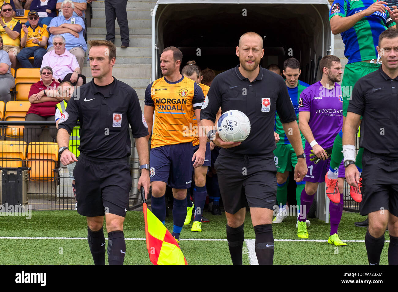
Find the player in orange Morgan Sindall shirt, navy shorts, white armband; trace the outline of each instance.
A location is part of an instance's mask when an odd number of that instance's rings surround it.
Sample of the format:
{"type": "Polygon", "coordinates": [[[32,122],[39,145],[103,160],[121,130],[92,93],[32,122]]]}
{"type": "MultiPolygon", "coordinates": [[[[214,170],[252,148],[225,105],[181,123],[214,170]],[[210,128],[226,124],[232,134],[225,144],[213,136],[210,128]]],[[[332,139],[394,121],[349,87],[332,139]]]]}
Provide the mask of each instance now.
{"type": "MultiPolygon", "coordinates": [[[[160,56],[160,68],[164,77],[152,82],[145,91],[144,118],[149,133],[155,115],[151,151],[150,181],[152,185],[152,213],[164,223],[166,184],[173,189],[173,232],[179,234],[187,215],[187,188],[192,181],[193,167],[202,166],[205,160],[207,137],[199,137],[199,150],[193,152],[193,116],[200,126],[200,110],[204,101],[203,91],[193,80],[179,73],[181,51],[170,46],[160,56]]],[[[149,138],[149,135],[148,135],[149,138]]]]}

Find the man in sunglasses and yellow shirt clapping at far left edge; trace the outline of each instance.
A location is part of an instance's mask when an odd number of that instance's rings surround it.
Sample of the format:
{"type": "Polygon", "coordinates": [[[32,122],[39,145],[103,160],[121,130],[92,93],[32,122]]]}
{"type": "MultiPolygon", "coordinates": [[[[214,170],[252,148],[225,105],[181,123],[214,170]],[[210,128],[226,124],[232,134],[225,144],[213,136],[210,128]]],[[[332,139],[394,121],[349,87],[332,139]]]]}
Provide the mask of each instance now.
{"type": "Polygon", "coordinates": [[[12,9],[11,4],[4,3],[1,6],[1,15],[0,18],[0,35],[3,38],[3,50],[8,52],[8,56],[11,61],[11,68],[15,69],[17,64],[17,55],[20,52],[20,33],[22,24],[21,21],[12,17],[12,13],[14,10],[12,9]]]}

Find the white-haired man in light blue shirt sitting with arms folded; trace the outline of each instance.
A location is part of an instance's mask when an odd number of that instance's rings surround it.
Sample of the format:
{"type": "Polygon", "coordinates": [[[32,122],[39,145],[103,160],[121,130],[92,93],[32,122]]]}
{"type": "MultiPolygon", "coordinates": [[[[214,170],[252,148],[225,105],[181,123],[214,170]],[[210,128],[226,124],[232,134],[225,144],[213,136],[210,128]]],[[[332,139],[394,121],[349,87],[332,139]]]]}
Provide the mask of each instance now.
{"type": "Polygon", "coordinates": [[[54,50],[53,38],[62,35],[66,40],[66,50],[76,56],[79,68],[83,68],[84,56],[87,44],[83,37],[84,21],[80,17],[72,17],[74,4],[70,0],[62,2],[62,16],[54,17],[47,30],[51,33],[49,37],[49,48],[47,52],[54,50]]]}

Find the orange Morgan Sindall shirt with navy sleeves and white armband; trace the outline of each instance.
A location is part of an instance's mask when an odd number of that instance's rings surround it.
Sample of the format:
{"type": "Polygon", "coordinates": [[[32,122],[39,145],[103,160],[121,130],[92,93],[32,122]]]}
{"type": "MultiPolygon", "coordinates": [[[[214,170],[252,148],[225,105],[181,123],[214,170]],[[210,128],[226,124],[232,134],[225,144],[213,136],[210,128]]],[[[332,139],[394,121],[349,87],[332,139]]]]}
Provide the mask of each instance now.
{"type": "Polygon", "coordinates": [[[194,109],[201,108],[203,101],[200,86],[187,77],[176,82],[162,77],[148,85],[145,105],[155,107],[151,148],[191,142],[192,130],[187,130],[194,125],[194,109]]]}

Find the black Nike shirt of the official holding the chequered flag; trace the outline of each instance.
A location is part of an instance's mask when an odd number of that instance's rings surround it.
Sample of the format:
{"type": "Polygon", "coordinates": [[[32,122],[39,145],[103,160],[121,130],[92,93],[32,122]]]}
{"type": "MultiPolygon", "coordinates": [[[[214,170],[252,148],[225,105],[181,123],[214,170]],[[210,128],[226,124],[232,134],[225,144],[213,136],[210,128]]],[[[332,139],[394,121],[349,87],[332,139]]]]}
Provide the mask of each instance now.
{"type": "Polygon", "coordinates": [[[113,83],[80,86],[61,116],[59,128],[70,134],[80,122],[79,151],[94,159],[122,159],[131,155],[129,124],[133,137],[148,135],[137,93],[113,77],[113,83]]]}

